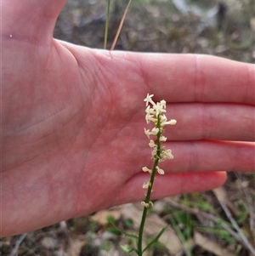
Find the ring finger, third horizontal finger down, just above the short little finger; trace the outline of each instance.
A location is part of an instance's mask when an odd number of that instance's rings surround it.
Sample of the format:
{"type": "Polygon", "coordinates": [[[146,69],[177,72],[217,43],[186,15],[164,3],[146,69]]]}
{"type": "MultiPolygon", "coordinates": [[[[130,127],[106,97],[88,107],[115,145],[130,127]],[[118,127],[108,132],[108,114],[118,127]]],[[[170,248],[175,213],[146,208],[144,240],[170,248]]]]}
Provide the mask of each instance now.
{"type": "Polygon", "coordinates": [[[254,143],[201,140],[171,142],[165,146],[173,151],[174,156],[171,161],[161,162],[166,173],[255,171],[254,143]]]}

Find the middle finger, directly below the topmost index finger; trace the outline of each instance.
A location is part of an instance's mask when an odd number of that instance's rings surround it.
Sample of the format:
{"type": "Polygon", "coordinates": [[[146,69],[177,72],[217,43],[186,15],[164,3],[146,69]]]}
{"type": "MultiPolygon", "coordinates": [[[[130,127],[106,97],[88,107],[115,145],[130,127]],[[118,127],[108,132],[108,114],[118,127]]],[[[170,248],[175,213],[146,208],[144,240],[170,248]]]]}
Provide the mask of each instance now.
{"type": "Polygon", "coordinates": [[[255,109],[239,104],[170,104],[168,119],[177,120],[167,126],[169,140],[219,139],[255,141],[255,109]]]}

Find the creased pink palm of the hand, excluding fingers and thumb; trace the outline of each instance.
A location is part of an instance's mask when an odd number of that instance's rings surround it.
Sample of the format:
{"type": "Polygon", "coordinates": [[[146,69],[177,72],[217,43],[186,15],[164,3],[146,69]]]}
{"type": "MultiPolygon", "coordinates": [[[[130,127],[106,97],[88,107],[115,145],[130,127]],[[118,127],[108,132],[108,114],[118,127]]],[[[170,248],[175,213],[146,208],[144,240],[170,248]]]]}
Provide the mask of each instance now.
{"type": "MultiPolygon", "coordinates": [[[[8,196],[18,195],[7,203],[47,212],[47,202],[61,214],[65,201],[65,216],[74,208],[76,214],[91,212],[91,203],[98,209],[123,202],[117,195],[144,162],[146,88],[139,94],[130,86],[127,90],[125,72],[114,77],[114,66],[99,65],[105,56],[91,50],[77,47],[71,53],[56,41],[48,48],[23,47],[13,66],[19,77],[8,77],[13,88],[6,88],[3,100],[10,113],[3,120],[8,129],[3,151],[13,156],[3,156],[3,178],[11,183],[8,196]]],[[[129,77],[129,82],[136,87],[138,79],[129,77]]]]}

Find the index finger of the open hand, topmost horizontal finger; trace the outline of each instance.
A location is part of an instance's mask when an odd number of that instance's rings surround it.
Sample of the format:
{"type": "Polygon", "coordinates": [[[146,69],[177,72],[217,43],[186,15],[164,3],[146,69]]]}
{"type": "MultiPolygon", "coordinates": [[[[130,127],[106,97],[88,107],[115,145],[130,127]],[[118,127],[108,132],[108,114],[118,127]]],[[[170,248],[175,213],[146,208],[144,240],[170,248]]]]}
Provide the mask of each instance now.
{"type": "MultiPolygon", "coordinates": [[[[105,56],[104,56],[105,57],[105,56]]],[[[111,53],[131,71],[138,67],[139,77],[155,100],[168,102],[255,103],[255,66],[233,60],[198,54],[111,53]]],[[[114,69],[112,69],[114,70],[114,69]]]]}

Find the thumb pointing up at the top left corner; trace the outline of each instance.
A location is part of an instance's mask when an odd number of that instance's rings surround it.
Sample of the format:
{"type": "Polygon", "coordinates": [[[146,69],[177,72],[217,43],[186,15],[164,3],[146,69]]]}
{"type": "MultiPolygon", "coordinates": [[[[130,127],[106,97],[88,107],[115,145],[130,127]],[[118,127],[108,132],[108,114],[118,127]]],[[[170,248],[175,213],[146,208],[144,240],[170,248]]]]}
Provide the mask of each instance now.
{"type": "Polygon", "coordinates": [[[3,1],[3,37],[12,37],[23,42],[46,43],[53,36],[55,22],[66,1],[3,1]]]}

